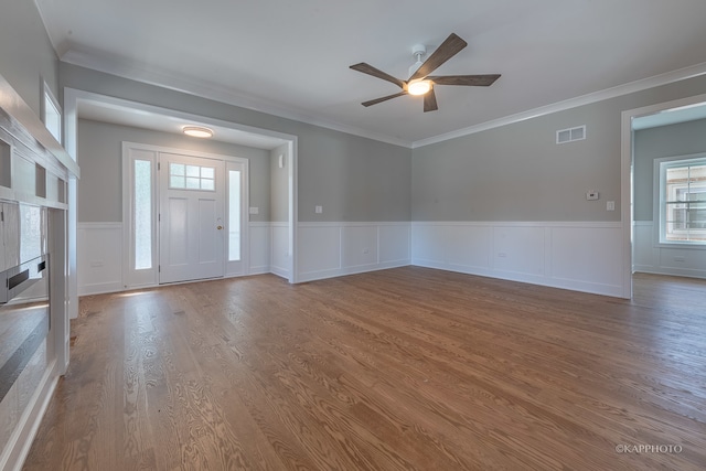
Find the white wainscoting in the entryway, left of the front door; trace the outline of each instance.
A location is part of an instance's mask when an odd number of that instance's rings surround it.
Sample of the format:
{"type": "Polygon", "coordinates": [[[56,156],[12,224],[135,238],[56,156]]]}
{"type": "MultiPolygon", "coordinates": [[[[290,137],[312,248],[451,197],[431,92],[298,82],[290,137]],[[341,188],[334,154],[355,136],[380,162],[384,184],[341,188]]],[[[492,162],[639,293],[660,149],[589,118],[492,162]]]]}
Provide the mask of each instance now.
{"type": "Polygon", "coordinates": [[[121,291],[122,223],[78,223],[78,296],[121,291]]]}

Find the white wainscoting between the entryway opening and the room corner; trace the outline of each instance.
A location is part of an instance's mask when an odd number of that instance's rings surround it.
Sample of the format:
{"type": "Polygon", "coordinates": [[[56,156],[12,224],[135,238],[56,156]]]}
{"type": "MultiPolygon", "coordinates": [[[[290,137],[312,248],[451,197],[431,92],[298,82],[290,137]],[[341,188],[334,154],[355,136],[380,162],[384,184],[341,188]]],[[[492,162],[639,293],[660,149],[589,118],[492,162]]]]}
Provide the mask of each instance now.
{"type": "Polygon", "coordinates": [[[410,239],[406,222],[299,223],[297,280],[409,265],[410,239]]]}

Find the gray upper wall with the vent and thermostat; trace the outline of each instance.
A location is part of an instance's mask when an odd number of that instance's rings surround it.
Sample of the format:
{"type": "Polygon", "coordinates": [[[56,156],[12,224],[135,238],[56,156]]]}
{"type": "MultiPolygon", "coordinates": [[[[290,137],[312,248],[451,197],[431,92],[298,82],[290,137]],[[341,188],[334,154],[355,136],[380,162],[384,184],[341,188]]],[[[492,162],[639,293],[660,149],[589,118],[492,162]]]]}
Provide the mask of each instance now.
{"type": "Polygon", "coordinates": [[[621,113],[703,93],[696,77],[415,149],[413,220],[620,221],[621,113]],[[581,125],[586,140],[555,143],[581,125]]]}

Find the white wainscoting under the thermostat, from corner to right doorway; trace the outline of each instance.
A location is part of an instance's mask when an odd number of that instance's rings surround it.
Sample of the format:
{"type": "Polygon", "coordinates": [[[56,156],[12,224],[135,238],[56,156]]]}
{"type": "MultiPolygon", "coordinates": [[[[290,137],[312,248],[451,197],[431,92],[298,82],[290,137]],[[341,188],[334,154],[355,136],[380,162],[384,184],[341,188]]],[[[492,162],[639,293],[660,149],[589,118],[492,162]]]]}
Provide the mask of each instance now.
{"type": "Polygon", "coordinates": [[[413,222],[411,265],[617,296],[620,223],[413,222]]]}

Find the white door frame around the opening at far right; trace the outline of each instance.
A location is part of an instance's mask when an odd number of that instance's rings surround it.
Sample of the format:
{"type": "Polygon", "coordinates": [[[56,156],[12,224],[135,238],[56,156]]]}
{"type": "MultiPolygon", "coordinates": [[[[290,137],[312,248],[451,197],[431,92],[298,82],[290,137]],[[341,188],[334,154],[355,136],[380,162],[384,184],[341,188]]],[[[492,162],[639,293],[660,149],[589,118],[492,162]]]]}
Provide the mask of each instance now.
{"type": "Polygon", "coordinates": [[[623,247],[623,298],[632,298],[632,225],[634,221],[632,185],[633,176],[633,137],[632,120],[643,116],[655,115],[667,109],[681,108],[706,103],[706,94],[672,101],[659,103],[656,105],[643,106],[641,108],[622,111],[621,117],[621,147],[620,147],[620,206],[622,221],[622,247],[623,247]]]}

